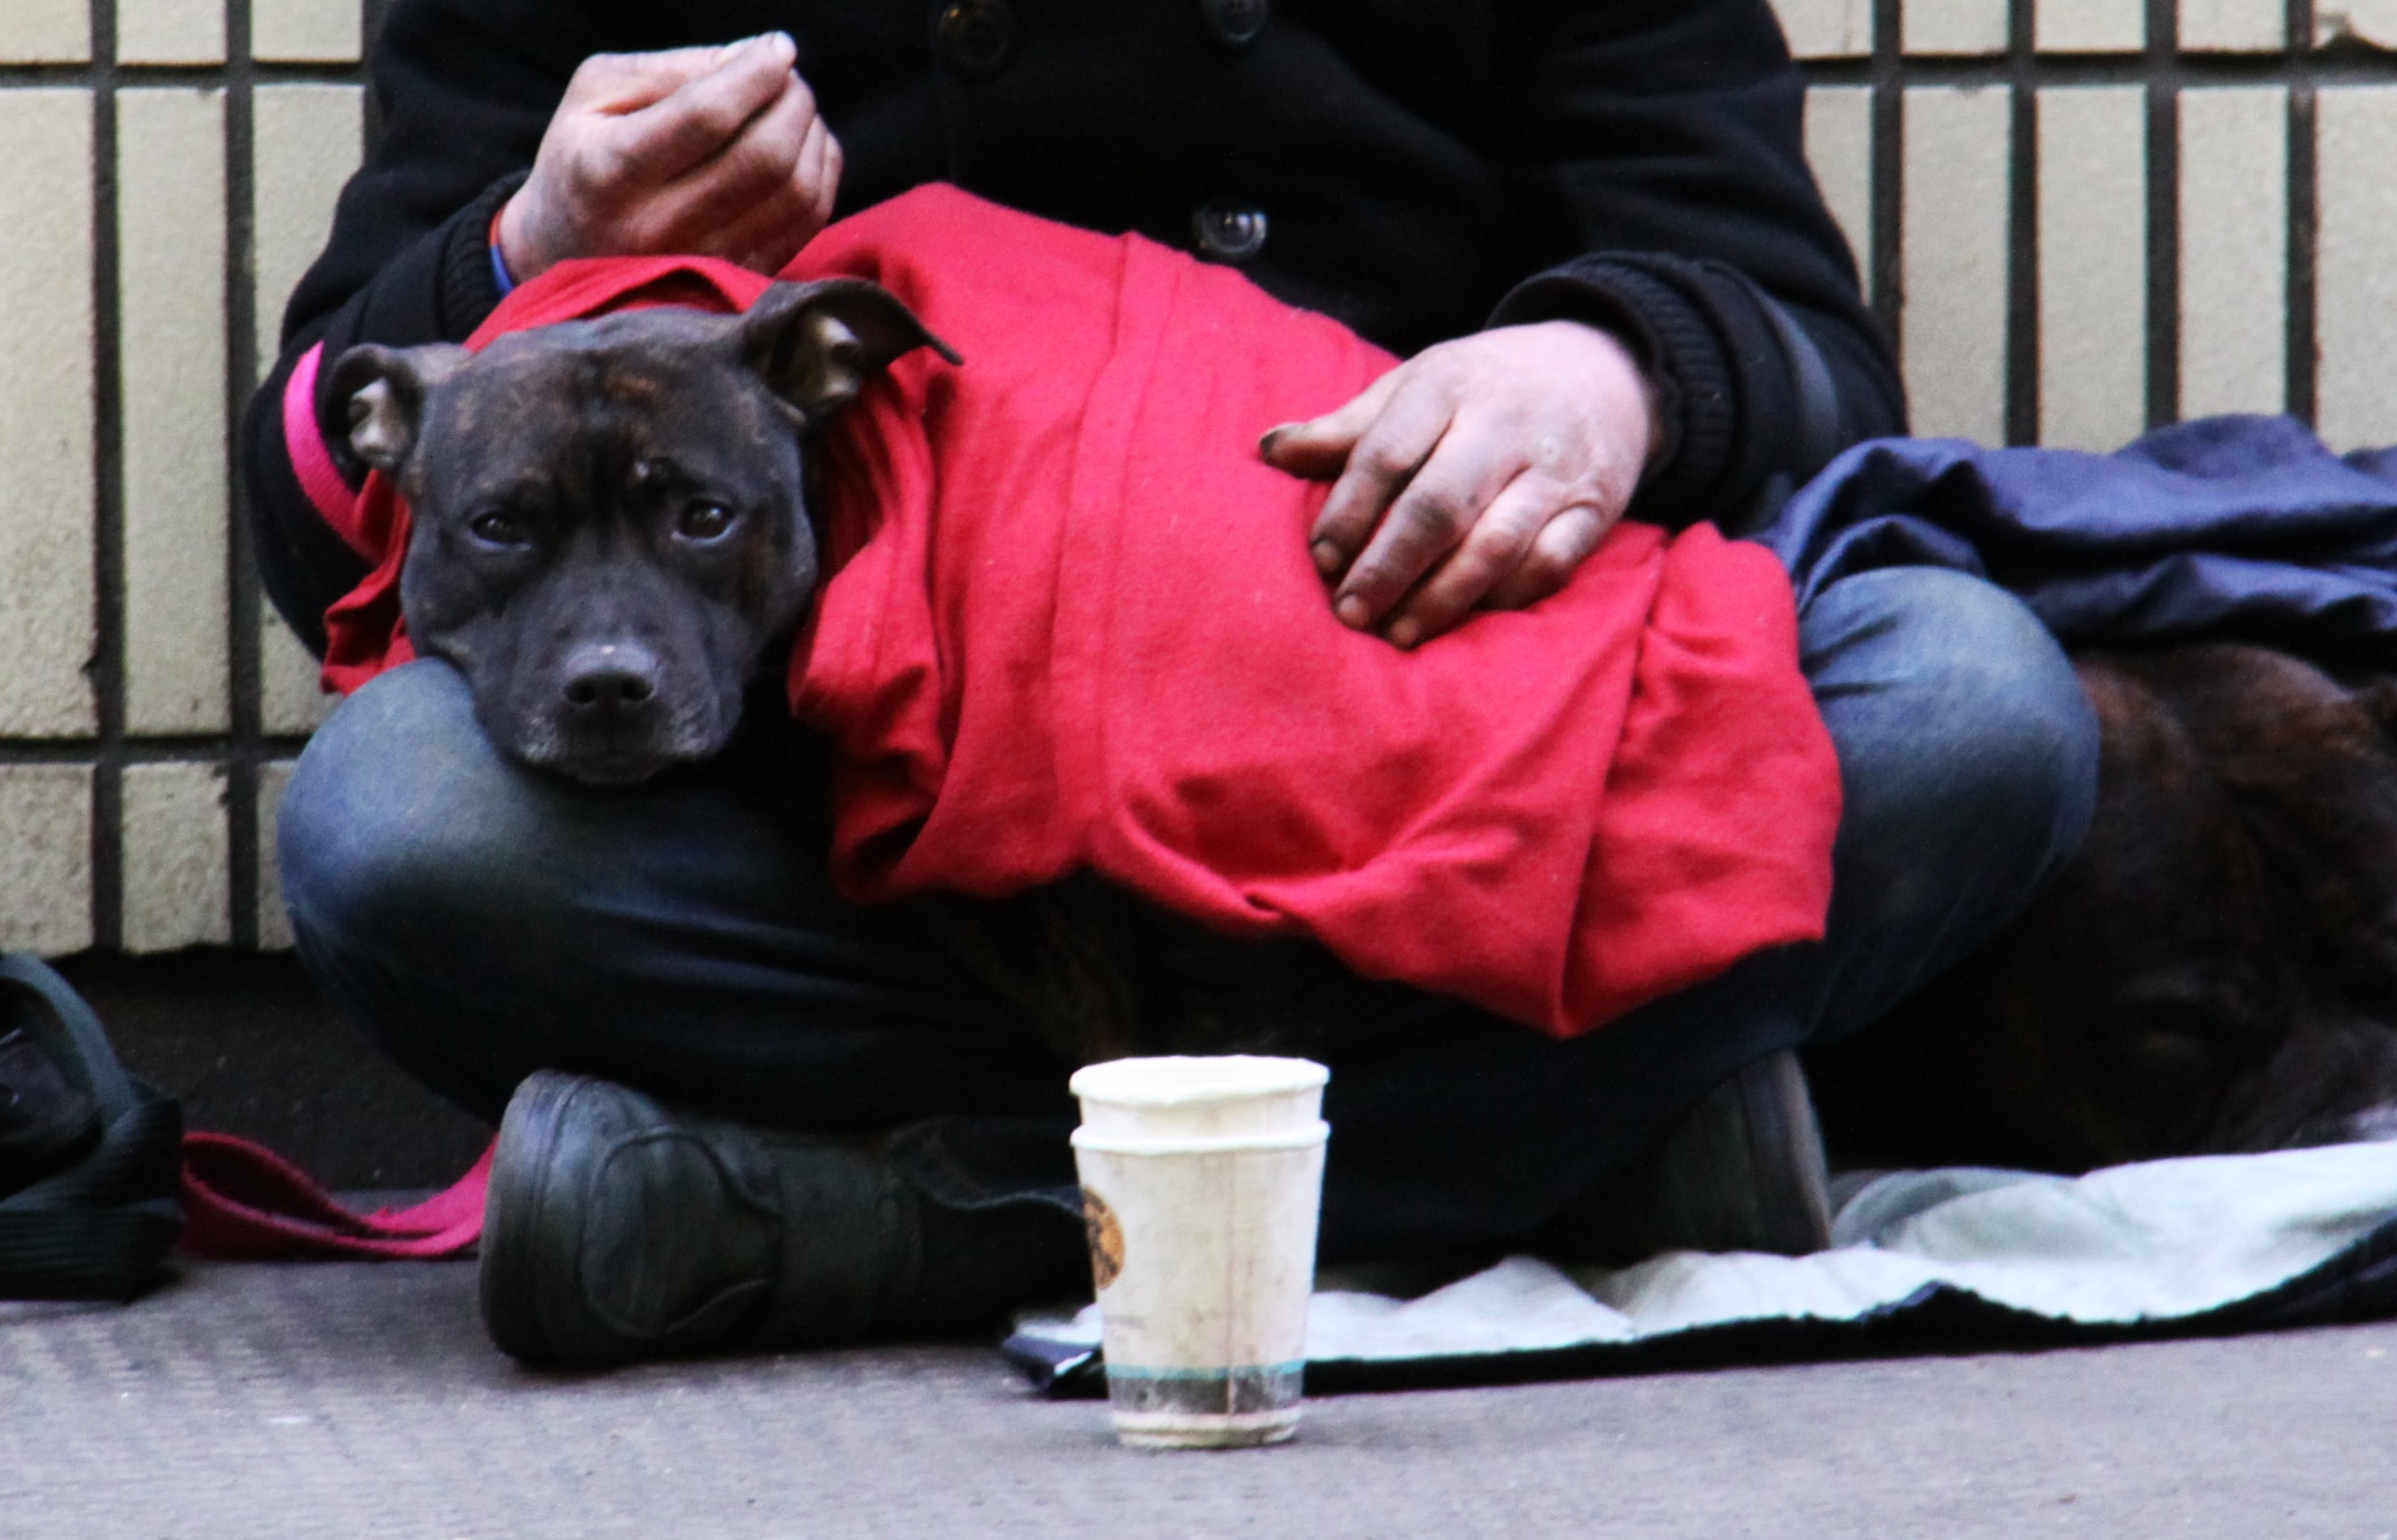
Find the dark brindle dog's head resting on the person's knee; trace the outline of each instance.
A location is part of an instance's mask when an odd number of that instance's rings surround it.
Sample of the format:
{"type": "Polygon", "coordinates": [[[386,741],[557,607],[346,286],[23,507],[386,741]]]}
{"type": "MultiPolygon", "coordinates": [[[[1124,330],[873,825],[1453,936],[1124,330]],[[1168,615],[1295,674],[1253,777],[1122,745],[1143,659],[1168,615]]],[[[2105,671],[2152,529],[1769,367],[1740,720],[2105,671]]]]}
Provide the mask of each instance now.
{"type": "Polygon", "coordinates": [[[623,786],[721,750],[815,594],[808,438],[892,359],[949,352],[873,283],[741,316],[645,309],[463,347],[352,347],[350,448],[407,498],[400,608],[484,733],[623,786]]]}

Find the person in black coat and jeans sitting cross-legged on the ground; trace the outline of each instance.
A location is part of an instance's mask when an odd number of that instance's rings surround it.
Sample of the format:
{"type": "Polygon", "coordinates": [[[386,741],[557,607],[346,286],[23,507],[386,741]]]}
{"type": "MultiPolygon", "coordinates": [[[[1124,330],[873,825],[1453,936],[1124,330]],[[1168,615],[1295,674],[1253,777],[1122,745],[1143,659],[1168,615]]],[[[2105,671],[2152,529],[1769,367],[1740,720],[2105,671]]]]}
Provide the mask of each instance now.
{"type": "MultiPolygon", "coordinates": [[[[1764,0],[398,0],[374,79],[384,139],[244,424],[266,587],[319,649],[369,572],[304,486],[364,484],[319,362],[465,340],[568,256],[772,273],[928,182],[1232,266],[1405,359],[1263,448],[1330,484],[1323,601],[1390,647],[1536,606],[1623,517],[1752,527],[1903,431],[1764,0]]],[[[1378,987],[1326,1054],[1326,1260],[1553,1241],[1659,1174],[1750,1217],[1683,1241],[1788,1245],[1819,1209],[1791,1049],[2028,903],[2095,728],[2045,630],[1951,572],[1824,589],[1798,663],[1841,781],[1824,939],[1563,1039],[1378,987]]],[[[511,1353],[954,1329],[1081,1269],[1071,1066],[911,910],[837,891],[750,762],[810,750],[765,740],[592,790],[412,661],[295,774],[285,896],[340,1008],[487,1118],[566,1075],[491,1171],[496,1217],[537,1214],[484,1238],[511,1353]]]]}

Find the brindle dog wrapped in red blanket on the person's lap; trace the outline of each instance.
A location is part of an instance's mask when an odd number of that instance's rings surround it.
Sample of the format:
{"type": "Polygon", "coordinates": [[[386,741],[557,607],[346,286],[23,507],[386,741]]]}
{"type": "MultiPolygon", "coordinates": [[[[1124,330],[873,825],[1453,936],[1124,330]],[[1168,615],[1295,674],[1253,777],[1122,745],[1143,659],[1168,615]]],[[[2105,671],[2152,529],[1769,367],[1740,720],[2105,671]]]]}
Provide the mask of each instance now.
{"type": "MultiPolygon", "coordinates": [[[[738,728],[755,793],[820,826],[822,745],[760,666],[815,596],[813,441],[913,347],[956,362],[863,280],[779,283],[743,316],[568,321],[479,354],[352,347],[333,376],[350,445],[412,510],[410,639],[467,678],[523,764],[630,786],[738,728]]],[[[920,917],[1074,1061],[1318,1051],[1390,996],[1304,941],[1215,936],[1095,879],[920,917]]]]}

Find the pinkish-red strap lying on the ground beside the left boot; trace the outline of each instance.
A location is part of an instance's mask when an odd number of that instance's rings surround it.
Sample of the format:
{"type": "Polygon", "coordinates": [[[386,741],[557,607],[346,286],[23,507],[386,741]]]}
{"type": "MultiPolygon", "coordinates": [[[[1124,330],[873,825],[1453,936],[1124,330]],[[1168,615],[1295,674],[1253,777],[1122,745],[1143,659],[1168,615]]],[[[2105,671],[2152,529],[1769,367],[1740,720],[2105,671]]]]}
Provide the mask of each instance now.
{"type": "Polygon", "coordinates": [[[237,1262],[458,1257],[482,1236],[491,1152],[446,1193],[360,1214],[288,1159],[230,1133],[182,1135],[182,1250],[237,1262]]]}

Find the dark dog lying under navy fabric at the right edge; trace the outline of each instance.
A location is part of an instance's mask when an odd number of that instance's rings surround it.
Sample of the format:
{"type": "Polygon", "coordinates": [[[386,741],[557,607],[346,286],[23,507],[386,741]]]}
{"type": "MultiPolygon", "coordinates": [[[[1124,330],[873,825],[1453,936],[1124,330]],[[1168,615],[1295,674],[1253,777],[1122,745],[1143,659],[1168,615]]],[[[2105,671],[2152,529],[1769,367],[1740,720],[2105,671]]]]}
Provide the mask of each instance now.
{"type": "Polygon", "coordinates": [[[2088,843],[2013,927],[1812,1056],[1860,1164],[2049,1171],[2397,1133],[2397,680],[2241,644],[2076,659],[2088,843]]]}

